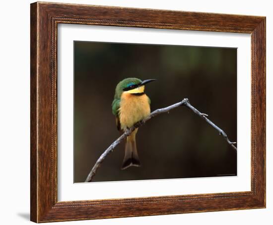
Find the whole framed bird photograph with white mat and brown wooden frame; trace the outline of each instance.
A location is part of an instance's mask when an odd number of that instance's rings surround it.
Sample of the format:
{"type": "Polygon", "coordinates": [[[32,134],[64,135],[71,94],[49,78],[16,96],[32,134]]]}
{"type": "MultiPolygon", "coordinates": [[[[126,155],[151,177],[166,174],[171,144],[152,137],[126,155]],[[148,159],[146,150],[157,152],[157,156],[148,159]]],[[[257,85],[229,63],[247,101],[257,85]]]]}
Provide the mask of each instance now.
{"type": "Polygon", "coordinates": [[[266,18],[31,4],[31,221],[266,207],[266,18]]]}

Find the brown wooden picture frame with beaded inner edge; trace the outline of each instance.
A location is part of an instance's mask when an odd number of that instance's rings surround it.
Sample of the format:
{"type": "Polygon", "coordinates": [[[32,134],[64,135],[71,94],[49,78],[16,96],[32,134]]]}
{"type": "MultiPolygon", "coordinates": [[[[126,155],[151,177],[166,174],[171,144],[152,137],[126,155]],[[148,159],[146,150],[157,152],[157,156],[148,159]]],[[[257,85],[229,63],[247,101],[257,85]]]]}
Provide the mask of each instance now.
{"type": "Polygon", "coordinates": [[[31,4],[31,221],[36,223],[266,207],[266,18],[80,4],[31,4]],[[57,25],[251,34],[251,191],[57,201],[57,25]]]}

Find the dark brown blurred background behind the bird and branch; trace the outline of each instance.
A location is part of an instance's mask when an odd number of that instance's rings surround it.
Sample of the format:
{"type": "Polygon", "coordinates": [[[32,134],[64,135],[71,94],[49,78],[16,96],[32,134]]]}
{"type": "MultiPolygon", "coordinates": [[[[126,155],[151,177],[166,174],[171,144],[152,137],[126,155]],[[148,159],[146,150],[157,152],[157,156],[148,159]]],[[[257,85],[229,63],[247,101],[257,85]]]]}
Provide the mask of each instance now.
{"type": "MultiPolygon", "coordinates": [[[[189,98],[232,141],[237,140],[235,48],[74,42],[74,182],[84,182],[103,151],[119,137],[111,104],[119,81],[146,85],[151,111],[189,98]]],[[[186,107],[160,114],[138,129],[141,167],[121,170],[124,143],[93,181],[237,175],[237,154],[186,107]]]]}

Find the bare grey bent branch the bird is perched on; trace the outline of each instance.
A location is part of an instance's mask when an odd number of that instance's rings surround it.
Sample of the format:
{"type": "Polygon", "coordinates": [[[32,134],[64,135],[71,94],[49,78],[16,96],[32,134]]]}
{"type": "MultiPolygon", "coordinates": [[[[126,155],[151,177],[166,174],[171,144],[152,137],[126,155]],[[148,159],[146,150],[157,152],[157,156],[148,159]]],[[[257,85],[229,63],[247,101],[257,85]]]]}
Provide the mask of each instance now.
{"type": "Polygon", "coordinates": [[[151,112],[145,119],[142,119],[140,121],[138,121],[134,126],[132,126],[131,128],[127,129],[117,140],[115,140],[103,153],[102,155],[99,157],[99,159],[97,160],[97,162],[95,163],[95,165],[93,166],[92,170],[89,172],[85,182],[91,182],[93,177],[96,174],[97,169],[100,167],[101,163],[103,162],[103,160],[106,158],[106,156],[112,152],[114,150],[114,148],[119,145],[127,136],[129,136],[137,127],[143,125],[147,120],[149,120],[150,118],[164,113],[164,112],[168,112],[180,107],[180,106],[186,106],[187,108],[189,108],[190,110],[192,110],[193,112],[195,112],[196,114],[198,114],[201,118],[205,119],[205,121],[207,123],[209,123],[213,128],[215,128],[220,135],[222,135],[225,140],[227,141],[228,144],[230,144],[235,150],[237,150],[237,148],[234,146],[234,144],[236,144],[236,142],[231,142],[226,133],[220,129],[218,126],[216,126],[213,122],[211,122],[206,116],[208,116],[205,113],[199,112],[197,109],[195,109],[189,102],[188,99],[183,99],[183,101],[173,104],[171,106],[162,108],[162,109],[157,109],[153,112],[151,112]]]}

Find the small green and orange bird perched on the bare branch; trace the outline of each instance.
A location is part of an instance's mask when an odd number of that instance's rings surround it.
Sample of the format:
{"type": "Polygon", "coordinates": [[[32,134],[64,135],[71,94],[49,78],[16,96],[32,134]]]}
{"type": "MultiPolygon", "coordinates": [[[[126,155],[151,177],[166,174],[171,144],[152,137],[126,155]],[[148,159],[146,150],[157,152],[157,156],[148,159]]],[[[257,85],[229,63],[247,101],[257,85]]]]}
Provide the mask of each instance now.
{"type": "MultiPolygon", "coordinates": [[[[145,85],[155,79],[141,81],[137,78],[126,78],[116,87],[112,112],[116,116],[118,130],[125,131],[139,120],[150,114],[150,99],[145,95],[145,85]]],[[[136,150],[137,128],[126,139],[123,165],[121,169],[130,166],[140,166],[136,150]]]]}

